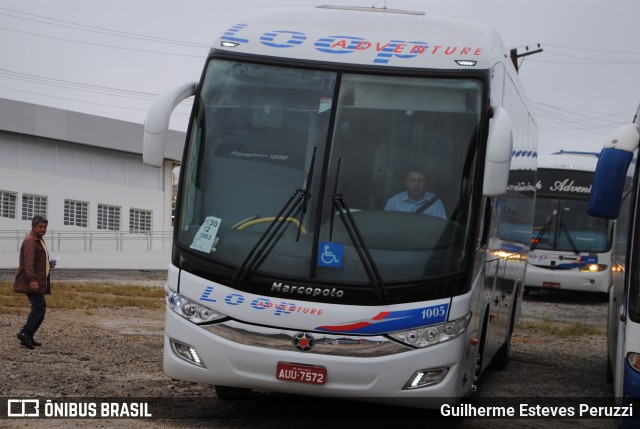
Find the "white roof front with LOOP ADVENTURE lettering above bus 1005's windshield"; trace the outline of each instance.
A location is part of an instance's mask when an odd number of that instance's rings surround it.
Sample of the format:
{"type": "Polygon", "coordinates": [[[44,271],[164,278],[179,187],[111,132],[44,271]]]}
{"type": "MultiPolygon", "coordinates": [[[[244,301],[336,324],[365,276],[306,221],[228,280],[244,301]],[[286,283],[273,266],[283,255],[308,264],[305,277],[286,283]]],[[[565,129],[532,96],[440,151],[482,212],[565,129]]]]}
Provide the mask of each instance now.
{"type": "Polygon", "coordinates": [[[214,49],[359,65],[431,69],[513,67],[484,23],[367,7],[274,7],[238,20],[214,49]]]}

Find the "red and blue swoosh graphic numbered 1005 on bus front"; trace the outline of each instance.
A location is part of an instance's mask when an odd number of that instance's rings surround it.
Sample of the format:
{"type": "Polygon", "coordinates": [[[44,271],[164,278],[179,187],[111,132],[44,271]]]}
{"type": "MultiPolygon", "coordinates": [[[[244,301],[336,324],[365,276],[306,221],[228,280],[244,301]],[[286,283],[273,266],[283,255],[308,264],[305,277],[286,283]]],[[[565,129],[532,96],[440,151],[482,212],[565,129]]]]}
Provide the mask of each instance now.
{"type": "Polygon", "coordinates": [[[354,320],[340,325],[323,325],[316,329],[324,332],[380,334],[442,323],[447,320],[448,313],[449,304],[411,310],[382,311],[370,319],[354,320]]]}

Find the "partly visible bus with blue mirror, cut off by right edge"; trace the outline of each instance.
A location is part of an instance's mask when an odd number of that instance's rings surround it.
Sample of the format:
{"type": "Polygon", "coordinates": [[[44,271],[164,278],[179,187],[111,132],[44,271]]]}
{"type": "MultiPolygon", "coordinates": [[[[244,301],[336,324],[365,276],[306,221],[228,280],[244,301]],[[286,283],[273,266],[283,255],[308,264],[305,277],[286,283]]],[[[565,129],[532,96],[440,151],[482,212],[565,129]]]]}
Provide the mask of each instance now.
{"type": "MultiPolygon", "coordinates": [[[[640,198],[637,163],[640,108],[634,122],[605,143],[593,179],[589,214],[617,219],[607,314],[607,377],[618,404],[640,399],[640,198]]],[[[639,428],[640,418],[621,426],[639,428]]]]}

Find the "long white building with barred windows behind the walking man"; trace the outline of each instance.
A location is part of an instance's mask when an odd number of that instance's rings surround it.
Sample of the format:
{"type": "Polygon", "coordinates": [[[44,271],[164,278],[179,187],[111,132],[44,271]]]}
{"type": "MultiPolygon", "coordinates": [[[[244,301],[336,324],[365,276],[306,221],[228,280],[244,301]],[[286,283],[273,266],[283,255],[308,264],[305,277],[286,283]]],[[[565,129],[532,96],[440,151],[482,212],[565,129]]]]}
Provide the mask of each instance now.
{"type": "Polygon", "coordinates": [[[168,266],[173,170],[142,163],[143,125],[0,99],[0,268],[18,265],[31,218],[49,220],[47,247],[63,268],[168,266]]]}

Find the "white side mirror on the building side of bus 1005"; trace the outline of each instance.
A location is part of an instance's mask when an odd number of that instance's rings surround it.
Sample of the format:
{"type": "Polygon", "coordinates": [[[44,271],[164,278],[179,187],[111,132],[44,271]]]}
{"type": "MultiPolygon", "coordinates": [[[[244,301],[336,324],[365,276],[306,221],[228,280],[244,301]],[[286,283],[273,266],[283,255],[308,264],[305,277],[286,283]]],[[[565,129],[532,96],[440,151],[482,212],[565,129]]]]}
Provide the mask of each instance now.
{"type": "Polygon", "coordinates": [[[191,97],[195,92],[196,84],[190,82],[161,95],[153,102],[144,121],[143,163],[162,167],[171,113],[182,100],[191,97]]]}

